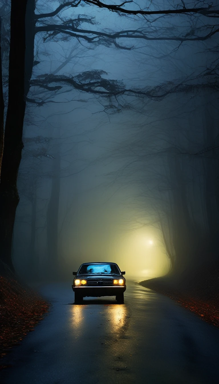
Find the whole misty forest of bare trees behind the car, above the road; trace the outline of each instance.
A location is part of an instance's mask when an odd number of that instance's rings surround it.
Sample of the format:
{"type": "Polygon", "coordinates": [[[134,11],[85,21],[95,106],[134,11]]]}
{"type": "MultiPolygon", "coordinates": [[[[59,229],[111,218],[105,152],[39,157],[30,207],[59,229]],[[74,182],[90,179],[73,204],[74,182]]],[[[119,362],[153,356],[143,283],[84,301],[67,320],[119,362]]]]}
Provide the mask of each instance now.
{"type": "Polygon", "coordinates": [[[110,259],[218,304],[218,18],[217,0],[0,0],[2,278],[110,259]]]}

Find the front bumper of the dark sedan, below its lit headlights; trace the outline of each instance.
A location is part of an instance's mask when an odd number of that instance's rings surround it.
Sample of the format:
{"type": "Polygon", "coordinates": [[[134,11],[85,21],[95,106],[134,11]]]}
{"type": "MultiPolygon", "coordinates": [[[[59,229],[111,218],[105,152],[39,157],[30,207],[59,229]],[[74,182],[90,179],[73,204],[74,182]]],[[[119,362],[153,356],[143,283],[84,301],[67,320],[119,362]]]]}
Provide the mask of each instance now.
{"type": "Polygon", "coordinates": [[[117,296],[120,293],[125,292],[126,286],[74,286],[72,285],[74,292],[80,293],[81,296],[89,297],[101,297],[101,296],[117,296]]]}

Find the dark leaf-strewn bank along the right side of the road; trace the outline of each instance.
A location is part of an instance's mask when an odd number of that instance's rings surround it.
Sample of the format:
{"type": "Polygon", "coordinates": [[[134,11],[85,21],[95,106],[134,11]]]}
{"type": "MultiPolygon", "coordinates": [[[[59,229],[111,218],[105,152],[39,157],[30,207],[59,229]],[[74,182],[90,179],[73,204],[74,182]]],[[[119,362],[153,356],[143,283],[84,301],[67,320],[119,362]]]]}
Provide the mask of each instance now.
{"type": "Polygon", "coordinates": [[[202,320],[219,327],[219,300],[217,300],[217,298],[201,300],[188,293],[182,293],[173,286],[166,284],[165,281],[159,279],[144,280],[139,284],[170,297],[184,308],[195,313],[202,320]]]}

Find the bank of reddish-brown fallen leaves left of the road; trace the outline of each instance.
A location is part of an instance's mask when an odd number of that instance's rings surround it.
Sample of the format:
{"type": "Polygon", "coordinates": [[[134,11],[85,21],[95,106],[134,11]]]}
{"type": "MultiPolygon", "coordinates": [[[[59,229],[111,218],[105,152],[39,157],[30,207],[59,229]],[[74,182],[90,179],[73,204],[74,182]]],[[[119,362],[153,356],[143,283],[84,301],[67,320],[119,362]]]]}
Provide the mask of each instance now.
{"type": "Polygon", "coordinates": [[[48,310],[49,304],[31,288],[0,276],[0,358],[34,331],[48,310]]]}

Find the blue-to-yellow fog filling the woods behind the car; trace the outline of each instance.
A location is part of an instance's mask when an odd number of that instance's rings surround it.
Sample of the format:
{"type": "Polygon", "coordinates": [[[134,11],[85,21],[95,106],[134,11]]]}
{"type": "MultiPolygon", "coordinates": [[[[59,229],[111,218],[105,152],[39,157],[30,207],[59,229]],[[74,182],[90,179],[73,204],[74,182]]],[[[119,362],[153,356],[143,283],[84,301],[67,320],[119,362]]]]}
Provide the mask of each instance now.
{"type": "MultiPolygon", "coordinates": [[[[37,1],[35,13],[59,4],[37,1]]],[[[143,7],[140,0],[125,5],[143,7]]],[[[164,0],[150,10],[169,7],[164,0]]],[[[195,40],[216,28],[212,20],[206,24],[200,13],[127,16],[86,2],[37,20],[13,230],[13,265],[21,277],[70,279],[81,263],[96,261],[118,263],[127,278],[162,276],[176,260],[183,260],[178,270],[188,258],[196,263],[201,239],[206,248],[213,244],[214,255],[218,40],[195,40]],[[73,18],[82,36],[129,32],[91,42],[43,31],[73,18]],[[130,30],[153,39],[130,38],[130,30]],[[144,95],[57,87],[55,77],[42,85],[46,76],[74,76],[78,84],[114,79],[144,95]]]]}

